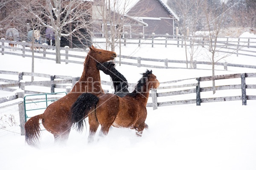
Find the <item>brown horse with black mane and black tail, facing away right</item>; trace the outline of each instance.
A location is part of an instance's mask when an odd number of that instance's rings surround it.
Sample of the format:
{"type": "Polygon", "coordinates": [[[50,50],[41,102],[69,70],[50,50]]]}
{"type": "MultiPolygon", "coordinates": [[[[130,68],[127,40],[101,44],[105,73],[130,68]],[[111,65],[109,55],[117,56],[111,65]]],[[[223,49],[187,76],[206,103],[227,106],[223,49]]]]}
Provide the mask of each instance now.
{"type": "Polygon", "coordinates": [[[106,136],[109,128],[126,127],[136,130],[137,136],[142,136],[147,117],[146,104],[149,90],[158,88],[159,82],[152,71],[143,73],[134,91],[124,97],[115,94],[95,96],[84,93],[73,104],[72,122],[78,131],[83,130],[83,119],[88,116],[90,133],[88,142],[93,142],[95,133],[101,125],[99,135],[106,136]]]}

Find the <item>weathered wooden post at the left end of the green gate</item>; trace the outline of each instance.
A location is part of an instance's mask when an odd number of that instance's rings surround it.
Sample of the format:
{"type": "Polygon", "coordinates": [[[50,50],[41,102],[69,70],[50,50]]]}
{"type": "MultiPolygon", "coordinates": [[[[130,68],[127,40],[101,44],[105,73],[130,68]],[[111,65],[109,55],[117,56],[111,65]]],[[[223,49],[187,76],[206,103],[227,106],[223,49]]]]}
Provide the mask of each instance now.
{"type": "Polygon", "coordinates": [[[19,107],[19,115],[20,115],[20,134],[25,135],[25,106],[24,106],[24,96],[25,96],[25,90],[17,92],[17,97],[22,98],[23,102],[18,104],[19,107]]]}

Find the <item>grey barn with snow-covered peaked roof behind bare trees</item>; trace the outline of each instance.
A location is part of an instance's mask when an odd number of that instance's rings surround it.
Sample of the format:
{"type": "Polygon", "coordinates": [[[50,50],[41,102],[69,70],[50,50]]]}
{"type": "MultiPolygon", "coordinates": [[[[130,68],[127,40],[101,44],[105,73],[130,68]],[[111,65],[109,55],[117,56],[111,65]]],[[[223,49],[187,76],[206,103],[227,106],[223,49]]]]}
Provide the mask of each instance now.
{"type": "MultiPolygon", "coordinates": [[[[93,4],[94,36],[99,37],[104,33],[103,14],[100,8],[107,8],[111,17],[105,17],[108,25],[115,24],[118,28],[121,23],[122,31],[127,32],[130,37],[143,34],[174,34],[174,23],[179,20],[175,12],[163,0],[112,0],[108,2],[95,0],[93,4]],[[111,1],[110,1],[111,2],[111,1]],[[106,7],[103,7],[103,6],[106,7]],[[115,5],[115,8],[113,6],[115,5]],[[120,7],[121,6],[121,7],[120,7]],[[113,20],[115,18],[115,20],[113,20]]],[[[105,27],[106,29],[106,27],[105,27]]]]}

